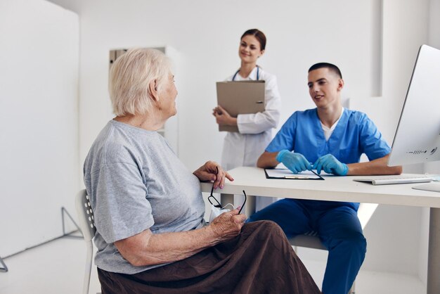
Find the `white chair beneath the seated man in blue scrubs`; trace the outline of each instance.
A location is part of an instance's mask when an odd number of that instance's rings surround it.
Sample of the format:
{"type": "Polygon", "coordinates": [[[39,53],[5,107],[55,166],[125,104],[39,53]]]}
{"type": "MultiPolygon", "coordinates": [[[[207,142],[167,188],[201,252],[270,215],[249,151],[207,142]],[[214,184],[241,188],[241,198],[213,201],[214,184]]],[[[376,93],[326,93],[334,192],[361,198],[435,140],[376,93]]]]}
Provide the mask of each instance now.
{"type": "MultiPolygon", "coordinates": [[[[368,221],[373,216],[373,213],[375,212],[376,208],[377,208],[377,204],[375,203],[361,203],[359,205],[358,218],[359,218],[359,222],[361,222],[362,229],[364,229],[365,226],[368,224],[368,221]]],[[[327,250],[327,248],[324,247],[323,243],[321,243],[321,240],[319,239],[318,234],[316,234],[316,232],[310,232],[305,235],[295,236],[293,238],[290,238],[289,242],[292,246],[294,246],[295,251],[297,251],[297,246],[327,250]]],[[[354,283],[353,286],[351,286],[349,293],[354,294],[355,292],[354,283]]]]}

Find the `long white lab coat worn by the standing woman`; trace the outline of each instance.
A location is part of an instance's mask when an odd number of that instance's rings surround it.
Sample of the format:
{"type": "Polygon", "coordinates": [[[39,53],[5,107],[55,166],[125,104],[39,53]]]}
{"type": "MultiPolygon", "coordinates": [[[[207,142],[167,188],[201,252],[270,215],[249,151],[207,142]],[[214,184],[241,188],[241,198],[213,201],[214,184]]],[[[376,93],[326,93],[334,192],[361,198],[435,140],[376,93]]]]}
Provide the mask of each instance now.
{"type": "MultiPolygon", "coordinates": [[[[233,76],[228,78],[231,81],[233,76]]],[[[243,78],[239,74],[235,81],[257,80],[257,67],[249,77],[243,78]]],[[[259,80],[265,82],[264,112],[238,115],[238,133],[228,132],[224,139],[221,165],[226,170],[235,167],[257,166],[259,156],[264,153],[268,143],[272,140],[272,129],[276,128],[280,120],[280,93],[275,75],[271,75],[259,68],[259,80]]],[[[257,211],[273,203],[276,198],[258,197],[257,211]]]]}

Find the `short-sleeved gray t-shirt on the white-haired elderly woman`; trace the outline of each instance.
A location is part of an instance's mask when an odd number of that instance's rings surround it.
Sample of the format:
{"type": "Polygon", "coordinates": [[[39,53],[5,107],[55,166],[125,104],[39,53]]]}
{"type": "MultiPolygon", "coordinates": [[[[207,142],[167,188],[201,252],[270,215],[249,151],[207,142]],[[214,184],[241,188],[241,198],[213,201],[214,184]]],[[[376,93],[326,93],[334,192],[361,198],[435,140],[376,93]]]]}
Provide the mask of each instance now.
{"type": "Polygon", "coordinates": [[[136,274],[115,241],[150,229],[153,234],[205,225],[205,203],[197,177],[157,132],[110,120],[84,162],[84,183],[95,215],[100,269],[136,274]]]}

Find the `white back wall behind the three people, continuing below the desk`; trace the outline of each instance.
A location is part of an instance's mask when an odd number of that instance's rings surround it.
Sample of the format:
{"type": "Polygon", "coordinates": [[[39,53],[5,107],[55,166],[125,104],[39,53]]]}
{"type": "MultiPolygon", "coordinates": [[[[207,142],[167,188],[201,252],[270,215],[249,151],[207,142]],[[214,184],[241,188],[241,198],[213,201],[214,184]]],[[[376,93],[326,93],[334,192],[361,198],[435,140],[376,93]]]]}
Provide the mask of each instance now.
{"type": "MultiPolygon", "coordinates": [[[[164,45],[179,51],[186,65],[183,75],[176,75],[179,156],[190,170],[205,160],[219,160],[224,134],[216,132],[211,115],[216,104],[214,82],[238,68],[240,35],[252,27],[268,37],[260,65],[278,77],[282,121],[295,110],[313,107],[306,71],[313,63],[328,61],[342,70],[344,96],[351,98],[351,108],[368,113],[391,143],[418,46],[427,41],[428,4],[428,0],[82,1],[80,160],[112,117],[108,51],[164,45]]],[[[364,268],[420,274],[419,255],[414,252],[422,256],[421,215],[420,208],[380,206],[365,229],[369,247],[364,268]]]]}

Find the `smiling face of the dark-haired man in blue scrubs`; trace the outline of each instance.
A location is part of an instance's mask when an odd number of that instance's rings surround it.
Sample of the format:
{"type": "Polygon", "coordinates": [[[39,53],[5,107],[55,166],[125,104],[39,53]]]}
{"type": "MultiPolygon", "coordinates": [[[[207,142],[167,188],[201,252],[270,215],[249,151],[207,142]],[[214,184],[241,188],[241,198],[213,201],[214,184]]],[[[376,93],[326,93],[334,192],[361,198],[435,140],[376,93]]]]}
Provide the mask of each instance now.
{"type": "Polygon", "coordinates": [[[309,94],[317,108],[330,108],[340,104],[344,80],[329,68],[318,68],[309,72],[309,94]]]}

